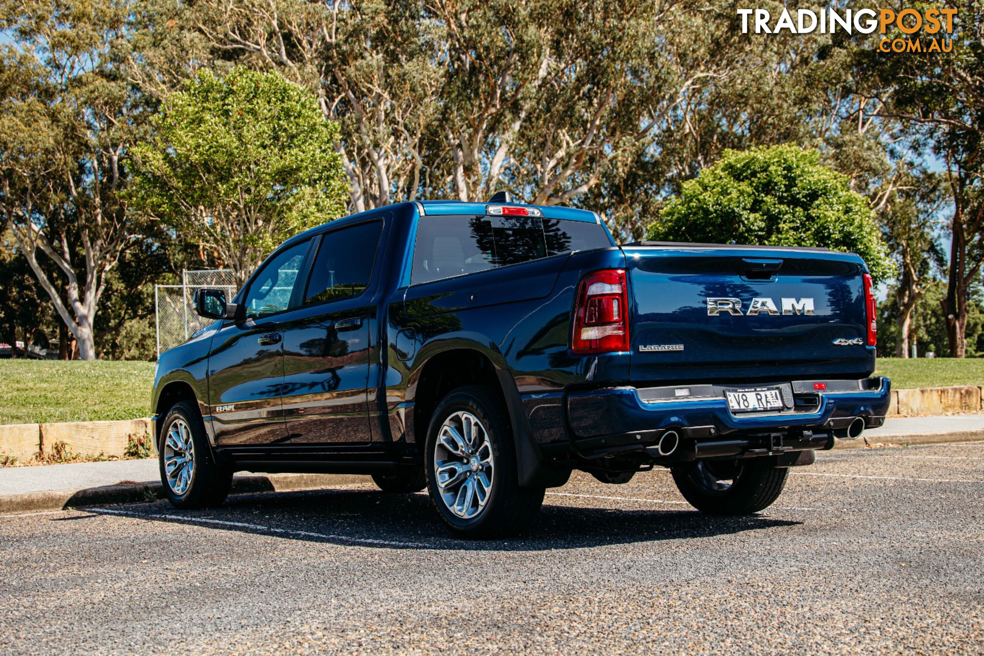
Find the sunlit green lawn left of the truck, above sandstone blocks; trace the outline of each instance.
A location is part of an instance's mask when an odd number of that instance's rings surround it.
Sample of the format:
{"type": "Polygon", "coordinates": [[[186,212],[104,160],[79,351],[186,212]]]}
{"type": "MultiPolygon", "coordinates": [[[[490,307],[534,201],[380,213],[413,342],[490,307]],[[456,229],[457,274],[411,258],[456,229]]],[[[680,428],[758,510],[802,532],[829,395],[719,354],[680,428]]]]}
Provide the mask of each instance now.
{"type": "Polygon", "coordinates": [[[0,360],[0,424],[151,416],[153,362],[0,360]]]}

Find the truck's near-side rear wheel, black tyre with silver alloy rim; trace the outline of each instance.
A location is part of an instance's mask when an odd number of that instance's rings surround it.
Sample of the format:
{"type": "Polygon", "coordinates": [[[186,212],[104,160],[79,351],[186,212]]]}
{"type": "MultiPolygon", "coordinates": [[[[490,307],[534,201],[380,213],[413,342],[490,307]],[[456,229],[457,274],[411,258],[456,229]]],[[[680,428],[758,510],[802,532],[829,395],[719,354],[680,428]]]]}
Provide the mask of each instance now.
{"type": "Polygon", "coordinates": [[[458,536],[502,538],[528,528],[544,488],[519,485],[516,447],[506,408],[491,388],[448,394],[427,431],[431,501],[458,536]]]}

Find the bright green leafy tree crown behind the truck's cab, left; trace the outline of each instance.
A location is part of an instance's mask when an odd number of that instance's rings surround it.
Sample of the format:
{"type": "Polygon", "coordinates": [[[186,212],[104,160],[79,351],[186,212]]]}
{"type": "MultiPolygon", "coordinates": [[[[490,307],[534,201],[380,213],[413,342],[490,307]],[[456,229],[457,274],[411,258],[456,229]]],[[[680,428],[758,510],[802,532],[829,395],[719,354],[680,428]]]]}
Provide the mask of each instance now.
{"type": "Polygon", "coordinates": [[[280,242],[344,212],[338,126],[276,73],[201,71],[134,149],[129,199],[242,282],[280,242]]]}

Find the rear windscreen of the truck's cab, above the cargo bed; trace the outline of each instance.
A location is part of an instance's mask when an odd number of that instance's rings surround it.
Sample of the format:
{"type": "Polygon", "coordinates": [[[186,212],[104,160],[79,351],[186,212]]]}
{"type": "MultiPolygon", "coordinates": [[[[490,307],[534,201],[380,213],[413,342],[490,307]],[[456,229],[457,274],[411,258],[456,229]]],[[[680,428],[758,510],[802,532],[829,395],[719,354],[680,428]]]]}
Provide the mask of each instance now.
{"type": "Polygon", "coordinates": [[[533,216],[421,216],[410,282],[611,246],[597,223],[533,216]]]}

